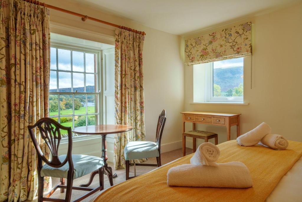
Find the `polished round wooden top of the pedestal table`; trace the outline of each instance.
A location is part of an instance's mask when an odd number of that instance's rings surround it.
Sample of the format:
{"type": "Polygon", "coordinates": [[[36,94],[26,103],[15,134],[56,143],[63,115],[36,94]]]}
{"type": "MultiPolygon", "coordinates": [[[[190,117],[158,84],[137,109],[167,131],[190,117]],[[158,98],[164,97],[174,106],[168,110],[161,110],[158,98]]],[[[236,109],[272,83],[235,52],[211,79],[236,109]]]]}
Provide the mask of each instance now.
{"type": "Polygon", "coordinates": [[[84,135],[104,135],[123,133],[131,131],[132,126],[126,125],[92,125],[92,126],[81,126],[72,129],[73,133],[84,134],[84,135]]]}

